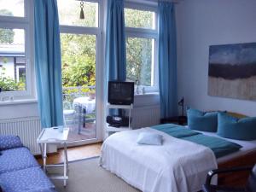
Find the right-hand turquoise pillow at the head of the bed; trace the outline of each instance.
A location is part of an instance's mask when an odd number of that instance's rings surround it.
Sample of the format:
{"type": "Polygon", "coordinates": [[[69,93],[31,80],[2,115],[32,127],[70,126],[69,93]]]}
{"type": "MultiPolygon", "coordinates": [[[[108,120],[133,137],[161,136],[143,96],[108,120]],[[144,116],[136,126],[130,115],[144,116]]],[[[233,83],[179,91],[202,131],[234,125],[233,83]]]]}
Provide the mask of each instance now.
{"type": "Polygon", "coordinates": [[[218,113],[218,136],[238,139],[256,140],[256,117],[232,117],[227,113],[218,113]]]}

